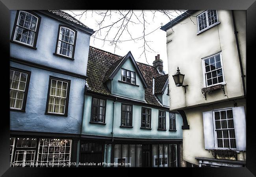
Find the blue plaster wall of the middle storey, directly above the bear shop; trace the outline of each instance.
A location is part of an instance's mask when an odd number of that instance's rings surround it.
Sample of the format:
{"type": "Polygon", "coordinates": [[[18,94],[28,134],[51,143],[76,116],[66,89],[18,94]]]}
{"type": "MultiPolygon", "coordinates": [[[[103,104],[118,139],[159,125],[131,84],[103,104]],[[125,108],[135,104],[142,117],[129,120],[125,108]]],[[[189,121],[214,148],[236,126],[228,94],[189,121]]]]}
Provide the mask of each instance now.
{"type": "Polygon", "coordinates": [[[85,80],[10,62],[15,68],[31,71],[26,112],[10,111],[10,129],[52,133],[80,133],[85,80]],[[46,115],[49,76],[71,80],[68,116],[46,115]]]}

